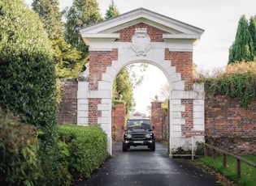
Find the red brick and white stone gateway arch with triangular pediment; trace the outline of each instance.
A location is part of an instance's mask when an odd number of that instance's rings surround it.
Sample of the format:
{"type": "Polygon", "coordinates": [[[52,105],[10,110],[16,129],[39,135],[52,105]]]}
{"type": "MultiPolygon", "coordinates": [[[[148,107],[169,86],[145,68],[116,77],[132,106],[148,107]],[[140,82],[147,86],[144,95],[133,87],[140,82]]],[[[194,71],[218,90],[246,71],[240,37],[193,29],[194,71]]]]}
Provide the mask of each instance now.
{"type": "MultiPolygon", "coordinates": [[[[203,30],[143,8],[80,29],[89,45],[89,64],[80,74],[77,124],[98,125],[107,133],[112,153],[112,84],[124,66],[157,66],[170,85],[170,155],[191,148],[191,133],[204,141],[204,92],[193,84],[193,45],[203,30]]],[[[157,78],[157,77],[156,77],[157,78]]]]}

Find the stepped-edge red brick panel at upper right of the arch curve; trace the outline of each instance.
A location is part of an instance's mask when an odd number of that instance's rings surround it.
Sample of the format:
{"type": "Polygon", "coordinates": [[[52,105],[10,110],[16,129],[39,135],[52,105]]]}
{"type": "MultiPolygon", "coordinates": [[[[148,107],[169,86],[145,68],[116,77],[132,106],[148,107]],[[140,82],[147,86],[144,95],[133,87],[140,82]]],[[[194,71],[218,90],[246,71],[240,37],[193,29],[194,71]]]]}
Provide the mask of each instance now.
{"type": "Polygon", "coordinates": [[[181,74],[184,80],[185,91],[193,87],[193,53],[192,52],[171,52],[165,50],[165,59],[171,61],[171,66],[176,66],[176,72],[181,74]]]}

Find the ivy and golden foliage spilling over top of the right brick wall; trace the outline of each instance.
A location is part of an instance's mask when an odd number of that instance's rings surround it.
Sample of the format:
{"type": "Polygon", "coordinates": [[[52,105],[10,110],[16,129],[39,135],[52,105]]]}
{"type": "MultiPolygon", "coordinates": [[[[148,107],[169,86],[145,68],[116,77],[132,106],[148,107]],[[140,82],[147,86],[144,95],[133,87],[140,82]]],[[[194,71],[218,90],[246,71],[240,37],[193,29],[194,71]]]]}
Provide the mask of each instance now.
{"type": "Polygon", "coordinates": [[[246,108],[256,94],[256,63],[236,62],[227,67],[227,72],[215,78],[202,78],[206,91],[212,95],[228,95],[241,98],[246,108]]]}

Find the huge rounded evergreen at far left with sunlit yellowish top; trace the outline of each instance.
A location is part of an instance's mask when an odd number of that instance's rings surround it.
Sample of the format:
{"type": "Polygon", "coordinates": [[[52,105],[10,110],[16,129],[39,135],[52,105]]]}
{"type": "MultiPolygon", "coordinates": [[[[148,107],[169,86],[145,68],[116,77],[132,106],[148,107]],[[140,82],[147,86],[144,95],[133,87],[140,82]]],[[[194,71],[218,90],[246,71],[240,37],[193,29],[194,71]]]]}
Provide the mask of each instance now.
{"type": "Polygon", "coordinates": [[[22,0],[0,2],[0,107],[37,126],[43,174],[58,185],[55,70],[50,40],[22,0]]]}

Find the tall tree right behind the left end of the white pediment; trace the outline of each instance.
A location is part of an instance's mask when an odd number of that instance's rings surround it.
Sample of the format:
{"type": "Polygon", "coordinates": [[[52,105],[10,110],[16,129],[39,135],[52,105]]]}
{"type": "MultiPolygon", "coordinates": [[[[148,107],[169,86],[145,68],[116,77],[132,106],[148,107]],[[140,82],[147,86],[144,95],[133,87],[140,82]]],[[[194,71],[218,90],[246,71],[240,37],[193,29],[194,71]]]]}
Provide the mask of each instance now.
{"type": "Polygon", "coordinates": [[[86,60],[89,49],[81,38],[78,28],[102,20],[98,2],[96,0],[74,0],[72,6],[63,11],[63,15],[67,19],[67,23],[65,23],[67,43],[72,44],[72,48],[80,51],[82,60],[86,60]]]}

